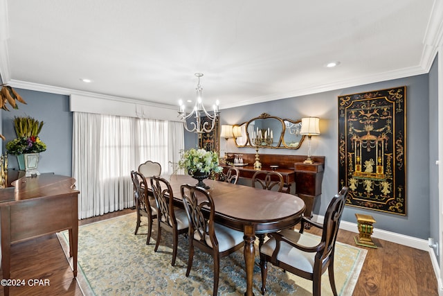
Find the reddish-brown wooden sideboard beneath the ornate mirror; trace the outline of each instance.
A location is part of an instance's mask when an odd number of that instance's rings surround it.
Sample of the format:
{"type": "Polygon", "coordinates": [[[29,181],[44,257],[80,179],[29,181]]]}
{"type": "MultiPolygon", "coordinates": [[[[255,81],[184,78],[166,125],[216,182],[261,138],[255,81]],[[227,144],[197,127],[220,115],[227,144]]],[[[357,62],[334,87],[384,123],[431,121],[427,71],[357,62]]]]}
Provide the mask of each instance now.
{"type": "MultiPolygon", "coordinates": [[[[226,153],[228,156],[226,162],[233,163],[235,154],[241,154],[243,162],[248,164],[247,166],[235,166],[239,170],[240,177],[251,179],[257,171],[253,167],[255,153],[226,153]]],[[[316,199],[321,194],[325,157],[311,156],[314,164],[303,163],[305,159],[307,159],[306,155],[262,154],[260,155],[260,162],[262,163],[260,171],[273,171],[271,166],[278,166],[275,171],[283,176],[284,191],[289,193],[291,184],[295,183],[296,195],[305,202],[304,216],[311,218],[316,199]]],[[[224,173],[226,173],[229,165],[221,164],[221,166],[224,168],[224,173]]]]}

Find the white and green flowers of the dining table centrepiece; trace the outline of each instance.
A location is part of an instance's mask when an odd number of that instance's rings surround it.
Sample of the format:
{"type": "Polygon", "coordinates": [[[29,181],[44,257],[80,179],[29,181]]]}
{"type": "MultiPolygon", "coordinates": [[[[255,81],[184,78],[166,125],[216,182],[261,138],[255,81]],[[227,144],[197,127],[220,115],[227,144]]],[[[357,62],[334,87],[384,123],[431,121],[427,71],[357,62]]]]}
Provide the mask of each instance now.
{"type": "Polygon", "coordinates": [[[182,153],[179,168],[186,169],[190,175],[196,172],[220,173],[222,170],[217,153],[195,148],[182,153]]]}

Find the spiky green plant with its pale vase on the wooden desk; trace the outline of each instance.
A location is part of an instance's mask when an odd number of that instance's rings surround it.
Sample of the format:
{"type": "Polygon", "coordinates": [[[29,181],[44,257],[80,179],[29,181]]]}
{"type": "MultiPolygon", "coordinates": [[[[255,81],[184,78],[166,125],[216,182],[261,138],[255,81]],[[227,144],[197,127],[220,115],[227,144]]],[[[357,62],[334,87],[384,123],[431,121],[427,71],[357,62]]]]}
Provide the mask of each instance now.
{"type": "Polygon", "coordinates": [[[46,144],[38,137],[43,125],[43,121],[37,121],[30,116],[14,118],[17,138],[6,143],[6,150],[8,154],[17,156],[19,169],[26,171],[26,176],[39,175],[37,171],[39,153],[46,150],[46,144]]]}

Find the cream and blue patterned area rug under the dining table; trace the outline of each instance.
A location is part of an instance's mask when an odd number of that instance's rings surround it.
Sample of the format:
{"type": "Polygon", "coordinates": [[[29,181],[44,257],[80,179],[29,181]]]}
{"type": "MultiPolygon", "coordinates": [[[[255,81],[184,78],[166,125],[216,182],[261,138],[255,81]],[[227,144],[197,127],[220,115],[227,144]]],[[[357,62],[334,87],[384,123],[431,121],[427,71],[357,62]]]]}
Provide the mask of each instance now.
{"type": "MultiPolygon", "coordinates": [[[[186,277],[188,239],[179,237],[177,261],[172,267],[172,236],[163,231],[159,250],[154,252],[156,227],[150,245],[146,245],[147,221],[144,223],[138,235],[134,235],[135,214],[80,226],[77,280],[84,295],[212,295],[212,257],[196,248],[190,276],[186,277]]],[[[68,232],[57,236],[72,264],[68,256],[68,232]]],[[[366,252],[352,245],[336,244],[334,269],[339,295],[352,295],[366,252]]],[[[257,254],[253,276],[255,295],[260,295],[262,286],[259,261],[257,254]]],[[[219,295],[243,295],[245,278],[243,250],[222,258],[219,295]]],[[[312,295],[311,285],[311,281],[268,264],[266,295],[312,295]]],[[[332,295],[327,272],[322,277],[321,293],[332,295]]]]}

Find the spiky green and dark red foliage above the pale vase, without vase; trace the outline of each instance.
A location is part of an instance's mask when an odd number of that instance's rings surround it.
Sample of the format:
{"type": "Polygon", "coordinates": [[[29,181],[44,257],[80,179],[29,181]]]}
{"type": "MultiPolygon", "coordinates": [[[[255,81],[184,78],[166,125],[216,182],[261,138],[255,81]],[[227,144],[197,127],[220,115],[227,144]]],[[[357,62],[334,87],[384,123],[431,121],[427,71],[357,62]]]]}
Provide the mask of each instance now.
{"type": "Polygon", "coordinates": [[[6,150],[12,155],[40,153],[46,150],[46,144],[40,141],[38,134],[43,128],[43,121],[31,117],[15,117],[14,128],[17,138],[6,143],[6,150]]]}

